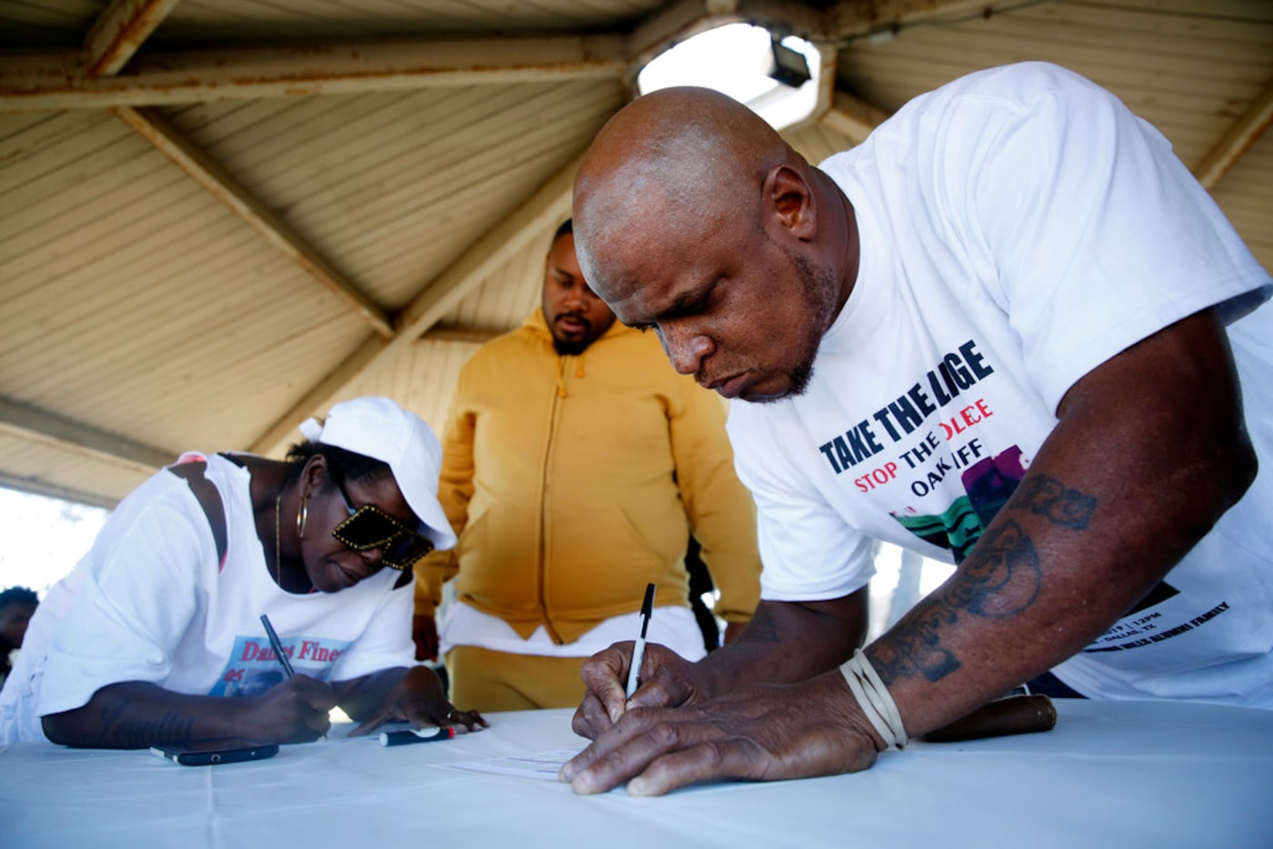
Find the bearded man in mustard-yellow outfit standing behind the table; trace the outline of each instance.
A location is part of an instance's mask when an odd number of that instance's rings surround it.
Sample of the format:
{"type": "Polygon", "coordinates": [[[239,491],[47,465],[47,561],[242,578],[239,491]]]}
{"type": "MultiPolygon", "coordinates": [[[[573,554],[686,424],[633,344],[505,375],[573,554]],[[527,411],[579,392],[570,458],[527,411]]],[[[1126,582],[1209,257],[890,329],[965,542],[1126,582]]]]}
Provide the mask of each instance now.
{"type": "Polygon", "coordinates": [[[566,221],[542,307],[474,354],[444,429],[438,495],[460,544],[418,564],[416,622],[428,628],[458,568],[457,603],[439,622],[453,701],[577,706],[583,661],[636,636],[648,583],[647,639],[701,657],[684,564],[691,531],[721,589],[726,640],[741,631],[760,558],[724,419],[654,333],[615,322],[592,294],[566,221]]]}

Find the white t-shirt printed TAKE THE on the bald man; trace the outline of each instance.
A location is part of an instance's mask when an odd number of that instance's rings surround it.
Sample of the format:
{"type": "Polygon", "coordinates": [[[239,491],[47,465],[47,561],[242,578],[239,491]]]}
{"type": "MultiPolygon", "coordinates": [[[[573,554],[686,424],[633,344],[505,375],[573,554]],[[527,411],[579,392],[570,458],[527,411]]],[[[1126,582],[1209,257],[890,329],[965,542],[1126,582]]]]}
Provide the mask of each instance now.
{"type": "Polygon", "coordinates": [[[1055,672],[1090,696],[1273,708],[1273,308],[1250,312],[1270,281],[1167,141],[1031,62],[913,101],[821,168],[857,214],[857,284],[805,395],[731,405],[761,596],[861,588],[872,538],[956,560],[1076,381],[1225,304],[1264,471],[1147,606],[1055,672]]]}

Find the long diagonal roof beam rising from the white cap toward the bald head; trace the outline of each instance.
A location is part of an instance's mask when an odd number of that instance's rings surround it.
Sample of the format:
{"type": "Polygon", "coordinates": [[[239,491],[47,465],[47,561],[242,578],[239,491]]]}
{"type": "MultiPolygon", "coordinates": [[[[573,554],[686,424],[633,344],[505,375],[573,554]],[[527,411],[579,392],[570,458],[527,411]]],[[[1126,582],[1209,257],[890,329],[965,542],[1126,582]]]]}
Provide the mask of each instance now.
{"type": "Polygon", "coordinates": [[[323,378],[306,396],[265,432],[251,447],[258,454],[271,456],[293,440],[297,425],[312,415],[321,415],[340,392],[370,365],[386,356],[397,355],[404,346],[437,325],[467,294],[530,244],[544,238],[570,215],[574,176],[583,163],[583,154],[550,177],[510,215],[474,242],[463,256],[425,284],[420,294],[398,313],[397,333],[392,340],[369,339],[335,372],[323,378]]]}

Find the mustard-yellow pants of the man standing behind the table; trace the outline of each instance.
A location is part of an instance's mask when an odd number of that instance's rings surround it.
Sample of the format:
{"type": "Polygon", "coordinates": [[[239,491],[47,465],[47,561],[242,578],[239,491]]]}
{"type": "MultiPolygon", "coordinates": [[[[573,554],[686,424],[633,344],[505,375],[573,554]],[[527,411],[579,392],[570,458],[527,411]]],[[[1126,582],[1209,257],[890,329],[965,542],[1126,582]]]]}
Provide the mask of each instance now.
{"type": "Polygon", "coordinates": [[[451,704],[461,710],[578,708],[582,657],[508,654],[476,645],[447,652],[451,704]]]}

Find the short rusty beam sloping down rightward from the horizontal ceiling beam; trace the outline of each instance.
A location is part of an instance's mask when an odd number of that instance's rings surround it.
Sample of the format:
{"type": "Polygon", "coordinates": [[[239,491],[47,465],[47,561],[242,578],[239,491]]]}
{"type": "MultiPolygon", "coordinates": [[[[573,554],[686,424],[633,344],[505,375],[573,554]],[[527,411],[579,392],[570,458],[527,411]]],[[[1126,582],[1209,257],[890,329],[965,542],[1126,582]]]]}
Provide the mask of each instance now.
{"type": "Polygon", "coordinates": [[[116,115],[172,159],[216,200],[247,221],[266,242],[300,266],[383,337],[393,335],[384,312],[309,243],[252,196],[211,157],[155,109],[118,107],[116,115]]]}

